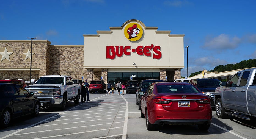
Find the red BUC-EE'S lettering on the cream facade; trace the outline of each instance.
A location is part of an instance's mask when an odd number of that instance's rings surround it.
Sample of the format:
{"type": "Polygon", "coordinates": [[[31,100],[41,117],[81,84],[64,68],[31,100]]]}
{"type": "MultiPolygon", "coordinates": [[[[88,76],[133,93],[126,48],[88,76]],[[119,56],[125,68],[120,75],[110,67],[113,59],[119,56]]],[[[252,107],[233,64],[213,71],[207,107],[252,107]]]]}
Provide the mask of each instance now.
{"type": "Polygon", "coordinates": [[[160,46],[137,46],[136,49],[131,49],[131,46],[107,46],[106,49],[106,58],[107,59],[115,59],[115,57],[122,57],[123,54],[131,55],[131,52],[137,53],[138,55],[145,55],[148,57],[152,57],[153,59],[160,59],[162,57],[160,46]]]}

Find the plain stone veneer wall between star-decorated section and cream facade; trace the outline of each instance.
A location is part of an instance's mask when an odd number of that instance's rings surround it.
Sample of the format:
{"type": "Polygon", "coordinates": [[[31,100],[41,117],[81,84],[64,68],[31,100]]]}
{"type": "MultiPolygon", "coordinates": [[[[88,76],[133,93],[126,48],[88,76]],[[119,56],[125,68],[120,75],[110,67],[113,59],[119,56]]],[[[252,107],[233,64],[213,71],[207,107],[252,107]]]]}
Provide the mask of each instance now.
{"type": "Polygon", "coordinates": [[[69,75],[73,79],[86,79],[83,68],[84,46],[51,45],[49,56],[49,75],[69,75]]]}

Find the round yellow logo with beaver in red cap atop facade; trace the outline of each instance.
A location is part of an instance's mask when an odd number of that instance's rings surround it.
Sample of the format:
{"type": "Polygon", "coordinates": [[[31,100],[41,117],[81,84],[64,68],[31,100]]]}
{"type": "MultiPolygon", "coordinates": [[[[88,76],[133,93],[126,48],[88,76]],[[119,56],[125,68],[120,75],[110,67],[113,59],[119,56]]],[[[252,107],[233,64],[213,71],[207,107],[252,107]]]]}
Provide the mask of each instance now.
{"type": "Polygon", "coordinates": [[[125,37],[130,41],[137,41],[142,37],[143,29],[137,23],[130,23],[125,26],[125,37]]]}

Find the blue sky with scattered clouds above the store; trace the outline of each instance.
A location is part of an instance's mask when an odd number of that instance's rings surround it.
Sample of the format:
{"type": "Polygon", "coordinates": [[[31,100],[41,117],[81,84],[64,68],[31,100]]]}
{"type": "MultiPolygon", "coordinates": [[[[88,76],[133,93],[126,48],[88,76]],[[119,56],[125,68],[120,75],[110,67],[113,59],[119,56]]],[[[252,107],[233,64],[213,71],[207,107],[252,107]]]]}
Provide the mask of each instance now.
{"type": "Polygon", "coordinates": [[[256,1],[0,0],[0,40],[49,40],[83,45],[83,34],[120,27],[130,19],[185,34],[189,75],[256,58],[256,1]]]}

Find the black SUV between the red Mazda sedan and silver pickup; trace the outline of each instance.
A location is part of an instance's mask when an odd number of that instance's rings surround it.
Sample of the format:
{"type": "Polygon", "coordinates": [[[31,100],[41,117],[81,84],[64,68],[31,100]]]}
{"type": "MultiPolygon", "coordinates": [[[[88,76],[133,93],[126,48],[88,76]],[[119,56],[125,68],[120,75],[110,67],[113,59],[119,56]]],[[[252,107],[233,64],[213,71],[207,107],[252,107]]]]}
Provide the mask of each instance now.
{"type": "Polygon", "coordinates": [[[215,102],[214,102],[214,94],[215,89],[217,87],[220,87],[221,81],[218,79],[191,79],[188,81],[188,83],[194,85],[197,87],[203,94],[208,95],[211,99],[211,107],[215,108],[215,102]]]}

